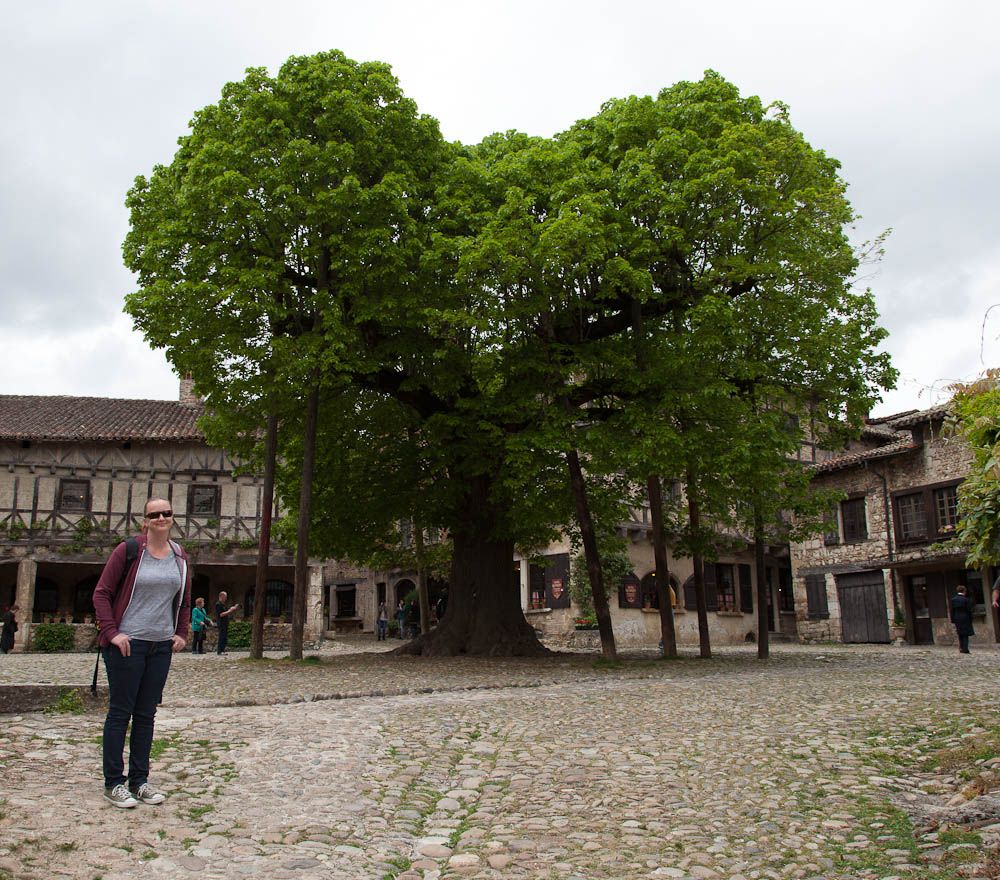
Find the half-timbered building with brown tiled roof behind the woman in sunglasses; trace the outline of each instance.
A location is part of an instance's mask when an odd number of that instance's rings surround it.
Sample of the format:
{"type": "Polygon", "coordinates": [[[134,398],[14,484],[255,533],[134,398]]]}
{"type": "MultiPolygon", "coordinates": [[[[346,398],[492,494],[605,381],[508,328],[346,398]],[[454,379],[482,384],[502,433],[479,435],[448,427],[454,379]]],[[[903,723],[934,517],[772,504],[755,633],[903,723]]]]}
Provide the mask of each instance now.
{"type": "MultiPolygon", "coordinates": [[[[0,607],[20,608],[18,646],[46,617],[86,621],[108,554],[139,529],[151,496],[173,507],[193,596],[214,609],[225,590],[252,613],[262,481],[205,442],[202,405],[184,391],[180,401],[0,396],[0,607]]],[[[310,561],[309,642],[332,628],[324,615],[341,585],[363,581],[327,575],[310,561]]],[[[293,580],[292,555],[274,548],[270,617],[290,614],[293,580]]]]}

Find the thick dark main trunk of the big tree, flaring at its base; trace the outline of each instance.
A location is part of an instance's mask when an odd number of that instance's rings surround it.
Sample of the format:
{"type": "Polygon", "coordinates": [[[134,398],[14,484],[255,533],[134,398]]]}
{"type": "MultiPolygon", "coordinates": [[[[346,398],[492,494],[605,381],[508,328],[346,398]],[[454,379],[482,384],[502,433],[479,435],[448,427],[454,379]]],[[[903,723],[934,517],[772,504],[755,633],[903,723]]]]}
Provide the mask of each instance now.
{"type": "Polygon", "coordinates": [[[514,577],[514,542],[495,537],[500,511],[490,499],[490,479],[463,480],[462,527],[452,531],[454,548],[448,613],[435,629],[399,648],[399,654],[451,657],[541,657],[549,652],[524,618],[514,577]]]}

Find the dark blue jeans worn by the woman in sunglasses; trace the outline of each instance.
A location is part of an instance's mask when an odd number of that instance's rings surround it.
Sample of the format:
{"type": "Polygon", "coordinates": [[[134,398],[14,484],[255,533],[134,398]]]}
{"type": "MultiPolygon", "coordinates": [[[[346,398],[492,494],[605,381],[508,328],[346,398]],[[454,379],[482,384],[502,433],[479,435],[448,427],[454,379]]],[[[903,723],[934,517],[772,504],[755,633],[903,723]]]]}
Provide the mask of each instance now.
{"type": "Polygon", "coordinates": [[[108,715],[104,719],[104,786],[125,782],[125,733],[129,737],[128,784],[133,788],[149,779],[149,751],[153,747],[153,722],[163,686],[170,671],[173,642],[132,639],[132,650],[122,657],[117,646],[103,650],[108,673],[108,715]]]}

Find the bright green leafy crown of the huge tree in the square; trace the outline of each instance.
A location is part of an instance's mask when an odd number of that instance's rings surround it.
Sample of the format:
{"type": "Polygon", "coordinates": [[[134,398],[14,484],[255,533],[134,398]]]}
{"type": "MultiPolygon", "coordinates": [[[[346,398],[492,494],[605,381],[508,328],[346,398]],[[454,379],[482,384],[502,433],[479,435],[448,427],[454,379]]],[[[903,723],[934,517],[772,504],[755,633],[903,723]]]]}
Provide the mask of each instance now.
{"type": "Polygon", "coordinates": [[[465,147],[388,66],[293,57],[136,179],[126,310],[194,377],[210,442],[258,464],[280,417],[288,545],[319,388],[310,554],[416,567],[396,534],[416,512],[455,547],[544,546],[572,518],[571,450],[602,529],[626,473],[694,473],[716,522],[770,525],[808,504],[783,410],[857,422],[892,379],[838,170],[712,71],[465,147]]]}

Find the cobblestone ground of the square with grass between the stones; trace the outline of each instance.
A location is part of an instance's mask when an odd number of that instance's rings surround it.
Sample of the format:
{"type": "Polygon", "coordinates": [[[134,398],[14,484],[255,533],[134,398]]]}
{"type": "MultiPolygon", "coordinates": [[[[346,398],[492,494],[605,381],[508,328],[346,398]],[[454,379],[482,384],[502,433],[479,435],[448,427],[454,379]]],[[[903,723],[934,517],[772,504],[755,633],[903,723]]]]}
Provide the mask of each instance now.
{"type": "MultiPolygon", "coordinates": [[[[748,647],[609,667],[374,647],[299,664],[178,655],[158,807],[103,801],[103,716],[0,716],[0,877],[996,876],[1000,825],[914,839],[905,818],[970,778],[928,755],[996,742],[995,649],[777,646],[761,662],[748,647]]],[[[7,655],[0,685],[82,689],[92,670],[90,654],[7,655]]],[[[972,776],[995,758],[971,758],[972,776]]]]}

